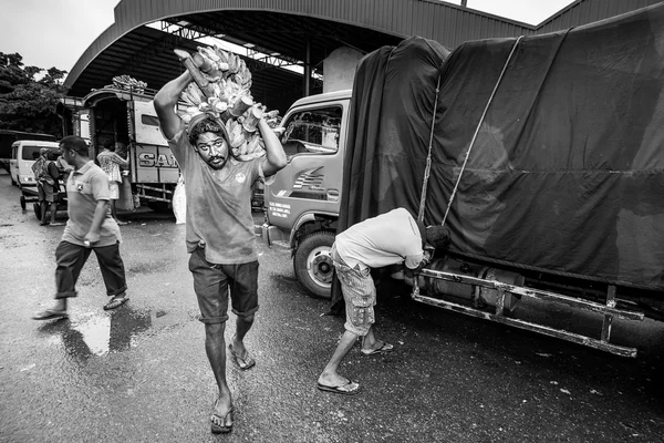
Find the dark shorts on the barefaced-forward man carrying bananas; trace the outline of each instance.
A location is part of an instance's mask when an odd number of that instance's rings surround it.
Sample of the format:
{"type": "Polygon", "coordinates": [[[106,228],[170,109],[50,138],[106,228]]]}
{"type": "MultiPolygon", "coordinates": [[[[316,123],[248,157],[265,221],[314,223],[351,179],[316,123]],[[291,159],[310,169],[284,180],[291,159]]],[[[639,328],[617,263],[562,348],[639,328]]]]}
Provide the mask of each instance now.
{"type": "Polygon", "coordinates": [[[258,310],[258,260],[240,265],[216,265],[205,259],[205,249],[196,248],[189,257],[194,291],[204,323],[228,320],[228,288],[232,312],[252,316],[258,310]]]}

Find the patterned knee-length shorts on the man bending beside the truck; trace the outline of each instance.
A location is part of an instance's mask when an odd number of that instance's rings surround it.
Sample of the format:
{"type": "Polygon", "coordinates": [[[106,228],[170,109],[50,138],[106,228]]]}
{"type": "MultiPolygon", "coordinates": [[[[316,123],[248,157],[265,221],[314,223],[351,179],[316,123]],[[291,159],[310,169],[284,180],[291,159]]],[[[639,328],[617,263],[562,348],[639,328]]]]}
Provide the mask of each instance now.
{"type": "Polygon", "coordinates": [[[341,291],[346,306],[346,331],[364,337],[375,322],[376,287],[371,277],[371,268],[350,268],[332,246],[330,253],[341,282],[341,291]]]}

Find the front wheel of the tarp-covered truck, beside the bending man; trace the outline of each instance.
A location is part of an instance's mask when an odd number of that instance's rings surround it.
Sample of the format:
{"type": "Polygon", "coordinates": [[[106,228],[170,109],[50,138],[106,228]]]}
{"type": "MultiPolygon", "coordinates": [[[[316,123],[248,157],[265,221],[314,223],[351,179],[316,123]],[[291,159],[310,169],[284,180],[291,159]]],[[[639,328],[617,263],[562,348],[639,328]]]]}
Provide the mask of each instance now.
{"type": "Polygon", "coordinates": [[[321,230],[304,237],[295,250],[293,269],[295,277],[314,297],[332,297],[332,258],[330,248],[334,243],[334,233],[321,230]]]}

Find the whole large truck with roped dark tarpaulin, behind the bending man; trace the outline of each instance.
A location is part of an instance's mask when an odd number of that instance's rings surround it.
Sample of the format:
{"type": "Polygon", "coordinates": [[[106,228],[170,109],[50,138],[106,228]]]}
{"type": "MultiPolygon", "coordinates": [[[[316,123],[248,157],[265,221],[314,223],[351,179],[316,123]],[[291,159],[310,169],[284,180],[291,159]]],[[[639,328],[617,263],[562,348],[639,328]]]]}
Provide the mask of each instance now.
{"type": "MultiPolygon", "coordinates": [[[[378,49],[352,95],[321,97],[339,111],[333,150],[294,151],[268,184],[264,237],[289,241],[298,278],[330,293],[334,233],[405,207],[452,233],[405,279],[414,300],[634,357],[611,329],[663,319],[663,41],[658,4],[453,52],[416,37],[378,49]],[[520,319],[523,300],[590,312],[598,331],[520,319]]],[[[284,146],[315,102],[287,113],[284,146]]]]}

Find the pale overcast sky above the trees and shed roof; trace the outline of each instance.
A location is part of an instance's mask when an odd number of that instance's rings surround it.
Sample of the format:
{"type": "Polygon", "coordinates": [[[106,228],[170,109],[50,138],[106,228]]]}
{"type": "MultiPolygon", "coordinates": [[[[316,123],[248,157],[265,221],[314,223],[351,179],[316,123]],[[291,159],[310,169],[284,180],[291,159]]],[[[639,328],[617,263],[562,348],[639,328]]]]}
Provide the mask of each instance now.
{"type": "MultiPolygon", "coordinates": [[[[71,71],[114,22],[118,0],[0,0],[0,52],[18,52],[25,65],[71,71]]],[[[459,4],[460,0],[449,3],[459,4]]],[[[572,0],[467,0],[467,7],[539,24],[572,0]]]]}

